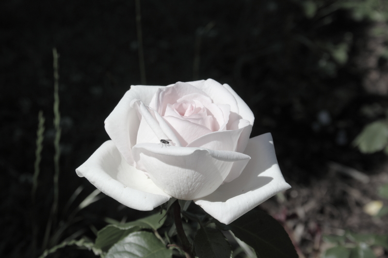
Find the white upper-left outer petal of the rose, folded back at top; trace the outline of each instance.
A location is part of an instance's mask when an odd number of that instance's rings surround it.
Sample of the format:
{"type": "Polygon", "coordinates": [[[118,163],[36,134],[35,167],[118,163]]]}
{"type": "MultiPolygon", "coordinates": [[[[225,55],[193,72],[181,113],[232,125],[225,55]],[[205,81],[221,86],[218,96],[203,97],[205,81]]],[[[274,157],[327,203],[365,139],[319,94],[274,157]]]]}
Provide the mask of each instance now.
{"type": "Polygon", "coordinates": [[[131,149],[136,144],[140,120],[135,108],[130,107],[133,99],[139,99],[146,105],[161,86],[131,86],[112,113],[105,120],[105,130],[113,140],[125,160],[134,165],[131,149]]]}

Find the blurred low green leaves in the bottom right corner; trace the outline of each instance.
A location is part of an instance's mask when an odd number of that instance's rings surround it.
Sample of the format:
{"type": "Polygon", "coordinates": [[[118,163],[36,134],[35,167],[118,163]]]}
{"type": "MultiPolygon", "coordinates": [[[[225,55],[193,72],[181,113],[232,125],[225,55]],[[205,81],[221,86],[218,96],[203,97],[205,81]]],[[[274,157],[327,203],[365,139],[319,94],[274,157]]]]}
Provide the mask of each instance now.
{"type": "Polygon", "coordinates": [[[341,236],[323,236],[323,241],[334,246],[322,258],[376,258],[371,247],[382,246],[388,250],[388,235],[346,232],[341,236]]]}

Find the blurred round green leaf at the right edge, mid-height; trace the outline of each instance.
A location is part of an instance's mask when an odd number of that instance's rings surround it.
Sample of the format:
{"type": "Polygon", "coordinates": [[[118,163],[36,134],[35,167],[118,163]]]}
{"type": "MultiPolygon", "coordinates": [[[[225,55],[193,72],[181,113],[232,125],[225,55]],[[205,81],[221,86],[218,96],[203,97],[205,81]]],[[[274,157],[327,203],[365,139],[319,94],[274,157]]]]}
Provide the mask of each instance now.
{"type": "Polygon", "coordinates": [[[375,121],[362,130],[353,144],[360,152],[372,153],[383,150],[388,143],[387,121],[375,121]]]}

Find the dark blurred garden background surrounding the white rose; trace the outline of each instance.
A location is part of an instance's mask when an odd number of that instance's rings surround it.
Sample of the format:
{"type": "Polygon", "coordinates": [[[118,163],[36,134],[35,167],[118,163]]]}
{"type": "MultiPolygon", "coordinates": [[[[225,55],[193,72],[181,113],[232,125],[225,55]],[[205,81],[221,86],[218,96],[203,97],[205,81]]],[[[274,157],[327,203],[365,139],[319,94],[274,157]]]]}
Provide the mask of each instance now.
{"type": "MultiPolygon", "coordinates": [[[[94,239],[105,217],[151,214],[102,194],[96,201],[94,186],[75,168],[109,139],[104,120],[130,85],[207,78],[229,84],[252,109],[251,137],[272,133],[293,188],[259,209],[288,228],[301,257],[319,257],[324,235],[388,234],[387,1],[141,0],[142,44],[135,2],[0,1],[1,257],[37,256],[69,237],[94,239]],[[48,229],[53,47],[60,55],[61,152],[58,215],[48,229]],[[40,110],[45,130],[33,203],[40,110]]],[[[388,257],[384,247],[372,251],[388,257]]],[[[58,257],[94,255],[69,247],[58,257]]]]}

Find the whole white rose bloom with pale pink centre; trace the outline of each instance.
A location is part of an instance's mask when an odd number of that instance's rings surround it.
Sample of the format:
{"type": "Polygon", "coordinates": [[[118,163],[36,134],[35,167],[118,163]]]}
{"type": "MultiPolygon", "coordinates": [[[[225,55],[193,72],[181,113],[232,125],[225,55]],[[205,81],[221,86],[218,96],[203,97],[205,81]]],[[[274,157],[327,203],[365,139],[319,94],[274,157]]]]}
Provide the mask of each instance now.
{"type": "Polygon", "coordinates": [[[249,138],[253,121],[236,92],[212,79],[131,86],[105,120],[112,140],[76,172],[130,208],[194,200],[229,224],[291,187],[271,134],[249,138]]]}

